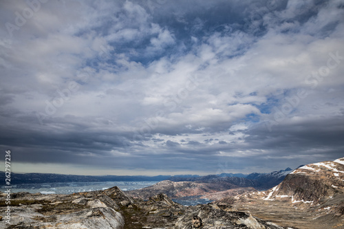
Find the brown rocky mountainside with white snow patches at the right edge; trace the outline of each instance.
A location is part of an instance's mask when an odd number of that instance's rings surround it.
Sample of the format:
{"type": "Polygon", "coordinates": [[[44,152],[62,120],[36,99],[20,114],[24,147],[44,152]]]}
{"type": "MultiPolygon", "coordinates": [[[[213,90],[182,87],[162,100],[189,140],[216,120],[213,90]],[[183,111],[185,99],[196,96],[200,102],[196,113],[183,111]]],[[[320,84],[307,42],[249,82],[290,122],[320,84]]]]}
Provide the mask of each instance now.
{"type": "Polygon", "coordinates": [[[269,190],[223,201],[281,226],[344,228],[344,157],[301,166],[269,190]]]}

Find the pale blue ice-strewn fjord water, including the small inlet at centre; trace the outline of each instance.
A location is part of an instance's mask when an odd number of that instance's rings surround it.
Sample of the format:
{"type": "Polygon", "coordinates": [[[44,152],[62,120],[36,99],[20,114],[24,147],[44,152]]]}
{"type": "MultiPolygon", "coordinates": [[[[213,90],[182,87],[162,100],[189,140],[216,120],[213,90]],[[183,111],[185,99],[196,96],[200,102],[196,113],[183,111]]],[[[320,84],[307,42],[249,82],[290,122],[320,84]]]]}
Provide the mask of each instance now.
{"type": "MultiPolygon", "coordinates": [[[[66,183],[44,183],[44,184],[17,184],[12,185],[11,193],[28,192],[42,194],[72,194],[89,192],[94,190],[105,190],[113,186],[118,186],[121,190],[135,190],[151,186],[157,182],[66,182],[66,183]]],[[[3,192],[6,189],[1,186],[3,192]]],[[[182,197],[173,199],[178,204],[184,206],[194,206],[197,204],[207,204],[209,199],[200,199],[199,196],[182,197]]]]}

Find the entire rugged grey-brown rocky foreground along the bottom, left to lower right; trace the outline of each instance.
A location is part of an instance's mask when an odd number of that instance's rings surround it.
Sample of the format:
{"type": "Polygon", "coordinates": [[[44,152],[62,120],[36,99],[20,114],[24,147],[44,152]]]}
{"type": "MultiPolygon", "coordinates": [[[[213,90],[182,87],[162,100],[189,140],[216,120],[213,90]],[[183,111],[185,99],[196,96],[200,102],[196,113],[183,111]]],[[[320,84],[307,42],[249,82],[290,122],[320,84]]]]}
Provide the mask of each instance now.
{"type": "Polygon", "coordinates": [[[282,228],[228,204],[182,206],[165,194],[143,201],[117,187],[72,195],[12,193],[10,224],[4,193],[0,206],[0,228],[282,228]]]}

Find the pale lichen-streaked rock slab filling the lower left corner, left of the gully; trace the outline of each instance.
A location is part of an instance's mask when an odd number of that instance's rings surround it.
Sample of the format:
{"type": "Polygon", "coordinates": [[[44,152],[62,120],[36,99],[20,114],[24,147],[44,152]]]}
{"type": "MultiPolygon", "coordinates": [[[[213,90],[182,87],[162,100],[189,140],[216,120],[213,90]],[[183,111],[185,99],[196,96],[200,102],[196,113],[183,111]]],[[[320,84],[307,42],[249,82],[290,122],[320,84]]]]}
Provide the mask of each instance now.
{"type": "MultiPolygon", "coordinates": [[[[10,224],[3,215],[0,228],[123,228],[124,218],[118,212],[119,206],[106,194],[13,193],[10,224]]],[[[1,199],[6,198],[2,195],[1,199]]],[[[6,207],[6,201],[1,201],[1,212],[5,212],[6,207]]]]}

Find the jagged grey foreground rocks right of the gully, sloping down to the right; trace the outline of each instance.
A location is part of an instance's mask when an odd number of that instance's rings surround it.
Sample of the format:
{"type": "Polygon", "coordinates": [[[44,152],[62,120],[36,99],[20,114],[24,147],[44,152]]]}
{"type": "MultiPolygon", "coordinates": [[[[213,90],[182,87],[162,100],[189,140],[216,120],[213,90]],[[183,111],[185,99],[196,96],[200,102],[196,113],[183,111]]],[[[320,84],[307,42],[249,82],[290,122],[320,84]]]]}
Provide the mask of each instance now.
{"type": "Polygon", "coordinates": [[[148,201],[141,202],[138,208],[138,214],[144,215],[145,218],[141,219],[141,227],[137,228],[281,229],[273,223],[256,219],[247,212],[233,211],[233,208],[226,204],[182,206],[175,204],[165,194],[155,195],[148,201]]]}

